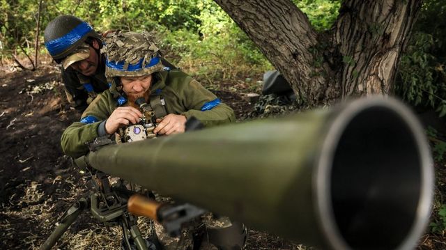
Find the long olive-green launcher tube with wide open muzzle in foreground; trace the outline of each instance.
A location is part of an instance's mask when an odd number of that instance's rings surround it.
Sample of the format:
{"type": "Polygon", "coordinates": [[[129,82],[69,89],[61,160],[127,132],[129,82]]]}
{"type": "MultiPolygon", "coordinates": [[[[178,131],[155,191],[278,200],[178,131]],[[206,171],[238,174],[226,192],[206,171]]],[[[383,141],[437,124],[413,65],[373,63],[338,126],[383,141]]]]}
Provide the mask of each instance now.
{"type": "Polygon", "coordinates": [[[321,249],[413,248],[433,196],[422,127],[392,98],[105,146],[86,162],[321,249]]]}

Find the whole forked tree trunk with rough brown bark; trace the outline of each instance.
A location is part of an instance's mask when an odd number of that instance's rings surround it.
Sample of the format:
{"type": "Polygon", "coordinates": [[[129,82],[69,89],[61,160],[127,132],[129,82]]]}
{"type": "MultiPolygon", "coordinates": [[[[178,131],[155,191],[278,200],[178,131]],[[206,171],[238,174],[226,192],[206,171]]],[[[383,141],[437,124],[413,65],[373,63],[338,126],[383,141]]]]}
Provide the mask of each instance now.
{"type": "Polygon", "coordinates": [[[346,0],[317,33],[291,0],[215,0],[289,81],[302,104],[389,93],[422,0],[346,0]]]}

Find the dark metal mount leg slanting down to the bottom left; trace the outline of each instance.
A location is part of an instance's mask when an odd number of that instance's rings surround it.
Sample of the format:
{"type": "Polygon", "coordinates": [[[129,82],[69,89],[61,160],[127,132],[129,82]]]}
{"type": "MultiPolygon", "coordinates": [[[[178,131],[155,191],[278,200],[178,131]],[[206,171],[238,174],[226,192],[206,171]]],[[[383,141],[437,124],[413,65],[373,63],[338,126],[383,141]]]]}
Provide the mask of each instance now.
{"type": "Polygon", "coordinates": [[[65,233],[68,227],[75,221],[79,214],[88,207],[89,203],[86,198],[80,198],[79,201],[72,204],[68,210],[66,210],[62,216],[59,218],[59,225],[54,229],[54,231],[49,235],[45,243],[40,246],[40,250],[49,250],[54,244],[61,238],[63,233],[65,233]]]}

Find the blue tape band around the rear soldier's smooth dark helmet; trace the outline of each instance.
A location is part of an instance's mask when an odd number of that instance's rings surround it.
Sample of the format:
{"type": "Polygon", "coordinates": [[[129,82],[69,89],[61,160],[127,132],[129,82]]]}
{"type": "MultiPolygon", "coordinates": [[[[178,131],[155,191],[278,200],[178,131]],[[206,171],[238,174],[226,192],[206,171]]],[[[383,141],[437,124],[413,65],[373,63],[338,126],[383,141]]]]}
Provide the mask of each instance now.
{"type": "Polygon", "coordinates": [[[45,42],[45,47],[47,47],[49,54],[56,56],[68,49],[68,47],[73,45],[79,39],[83,38],[90,31],[93,31],[90,24],[82,22],[64,36],[45,42]]]}

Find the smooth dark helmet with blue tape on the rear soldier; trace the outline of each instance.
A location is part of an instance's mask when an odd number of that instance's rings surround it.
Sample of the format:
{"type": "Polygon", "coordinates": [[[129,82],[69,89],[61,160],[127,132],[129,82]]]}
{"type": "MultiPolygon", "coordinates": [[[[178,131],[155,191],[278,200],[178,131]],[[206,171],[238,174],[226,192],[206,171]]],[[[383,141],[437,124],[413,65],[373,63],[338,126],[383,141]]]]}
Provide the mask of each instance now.
{"type": "Polygon", "coordinates": [[[90,24],[72,15],[56,17],[49,22],[43,35],[45,47],[58,63],[89,37],[101,38],[90,24]]]}

